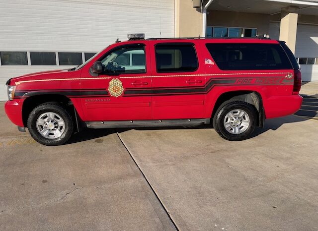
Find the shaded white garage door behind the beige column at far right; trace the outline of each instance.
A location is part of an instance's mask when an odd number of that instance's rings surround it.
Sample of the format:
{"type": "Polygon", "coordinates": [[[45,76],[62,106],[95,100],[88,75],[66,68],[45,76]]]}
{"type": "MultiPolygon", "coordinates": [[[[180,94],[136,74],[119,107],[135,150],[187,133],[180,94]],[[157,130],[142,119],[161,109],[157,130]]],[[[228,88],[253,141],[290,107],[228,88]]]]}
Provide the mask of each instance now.
{"type": "MultiPolygon", "coordinates": [[[[269,36],[279,39],[279,23],[270,23],[269,36]]],[[[318,81],[318,26],[297,25],[296,51],[303,81],[318,81]]]]}

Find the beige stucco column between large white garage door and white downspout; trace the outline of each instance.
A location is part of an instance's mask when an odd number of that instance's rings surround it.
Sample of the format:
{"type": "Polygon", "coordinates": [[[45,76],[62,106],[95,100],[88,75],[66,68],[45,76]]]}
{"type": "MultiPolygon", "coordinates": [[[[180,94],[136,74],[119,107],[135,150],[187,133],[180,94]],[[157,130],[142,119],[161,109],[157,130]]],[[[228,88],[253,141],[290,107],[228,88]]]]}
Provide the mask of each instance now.
{"type": "Polygon", "coordinates": [[[202,37],[200,10],[192,0],[175,0],[175,37],[202,37]]]}

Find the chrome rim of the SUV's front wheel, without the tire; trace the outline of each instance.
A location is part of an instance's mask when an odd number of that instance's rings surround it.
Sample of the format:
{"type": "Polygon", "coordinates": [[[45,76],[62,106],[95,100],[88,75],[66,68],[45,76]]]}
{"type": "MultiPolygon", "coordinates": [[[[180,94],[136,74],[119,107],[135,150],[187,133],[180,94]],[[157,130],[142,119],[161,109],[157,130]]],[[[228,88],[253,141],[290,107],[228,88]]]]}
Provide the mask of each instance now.
{"type": "Polygon", "coordinates": [[[47,112],[38,117],[36,128],[43,137],[56,139],[64,133],[65,122],[59,114],[47,112]]]}

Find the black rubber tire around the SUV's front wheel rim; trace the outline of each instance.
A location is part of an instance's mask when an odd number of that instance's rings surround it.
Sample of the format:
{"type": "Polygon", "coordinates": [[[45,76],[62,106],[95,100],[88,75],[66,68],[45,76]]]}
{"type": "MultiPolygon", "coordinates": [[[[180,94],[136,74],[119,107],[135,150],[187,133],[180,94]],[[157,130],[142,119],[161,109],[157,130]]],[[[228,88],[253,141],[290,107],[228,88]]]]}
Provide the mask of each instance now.
{"type": "Polygon", "coordinates": [[[40,144],[48,146],[64,144],[70,139],[73,133],[72,117],[65,108],[55,102],[44,103],[34,108],[28,117],[27,127],[33,139],[40,144]],[[64,131],[58,138],[46,138],[37,129],[36,123],[39,116],[49,112],[58,114],[64,120],[64,131]]]}

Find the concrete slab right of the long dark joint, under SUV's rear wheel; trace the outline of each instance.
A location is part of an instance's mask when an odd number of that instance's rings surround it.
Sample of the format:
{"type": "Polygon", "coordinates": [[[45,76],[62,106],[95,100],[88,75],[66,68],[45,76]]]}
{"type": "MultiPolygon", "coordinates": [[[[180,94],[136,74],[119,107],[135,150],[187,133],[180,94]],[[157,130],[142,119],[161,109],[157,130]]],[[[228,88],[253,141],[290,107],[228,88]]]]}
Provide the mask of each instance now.
{"type": "Polygon", "coordinates": [[[119,133],[180,230],[317,230],[318,123],[266,120],[229,142],[214,129],[119,133]]]}

